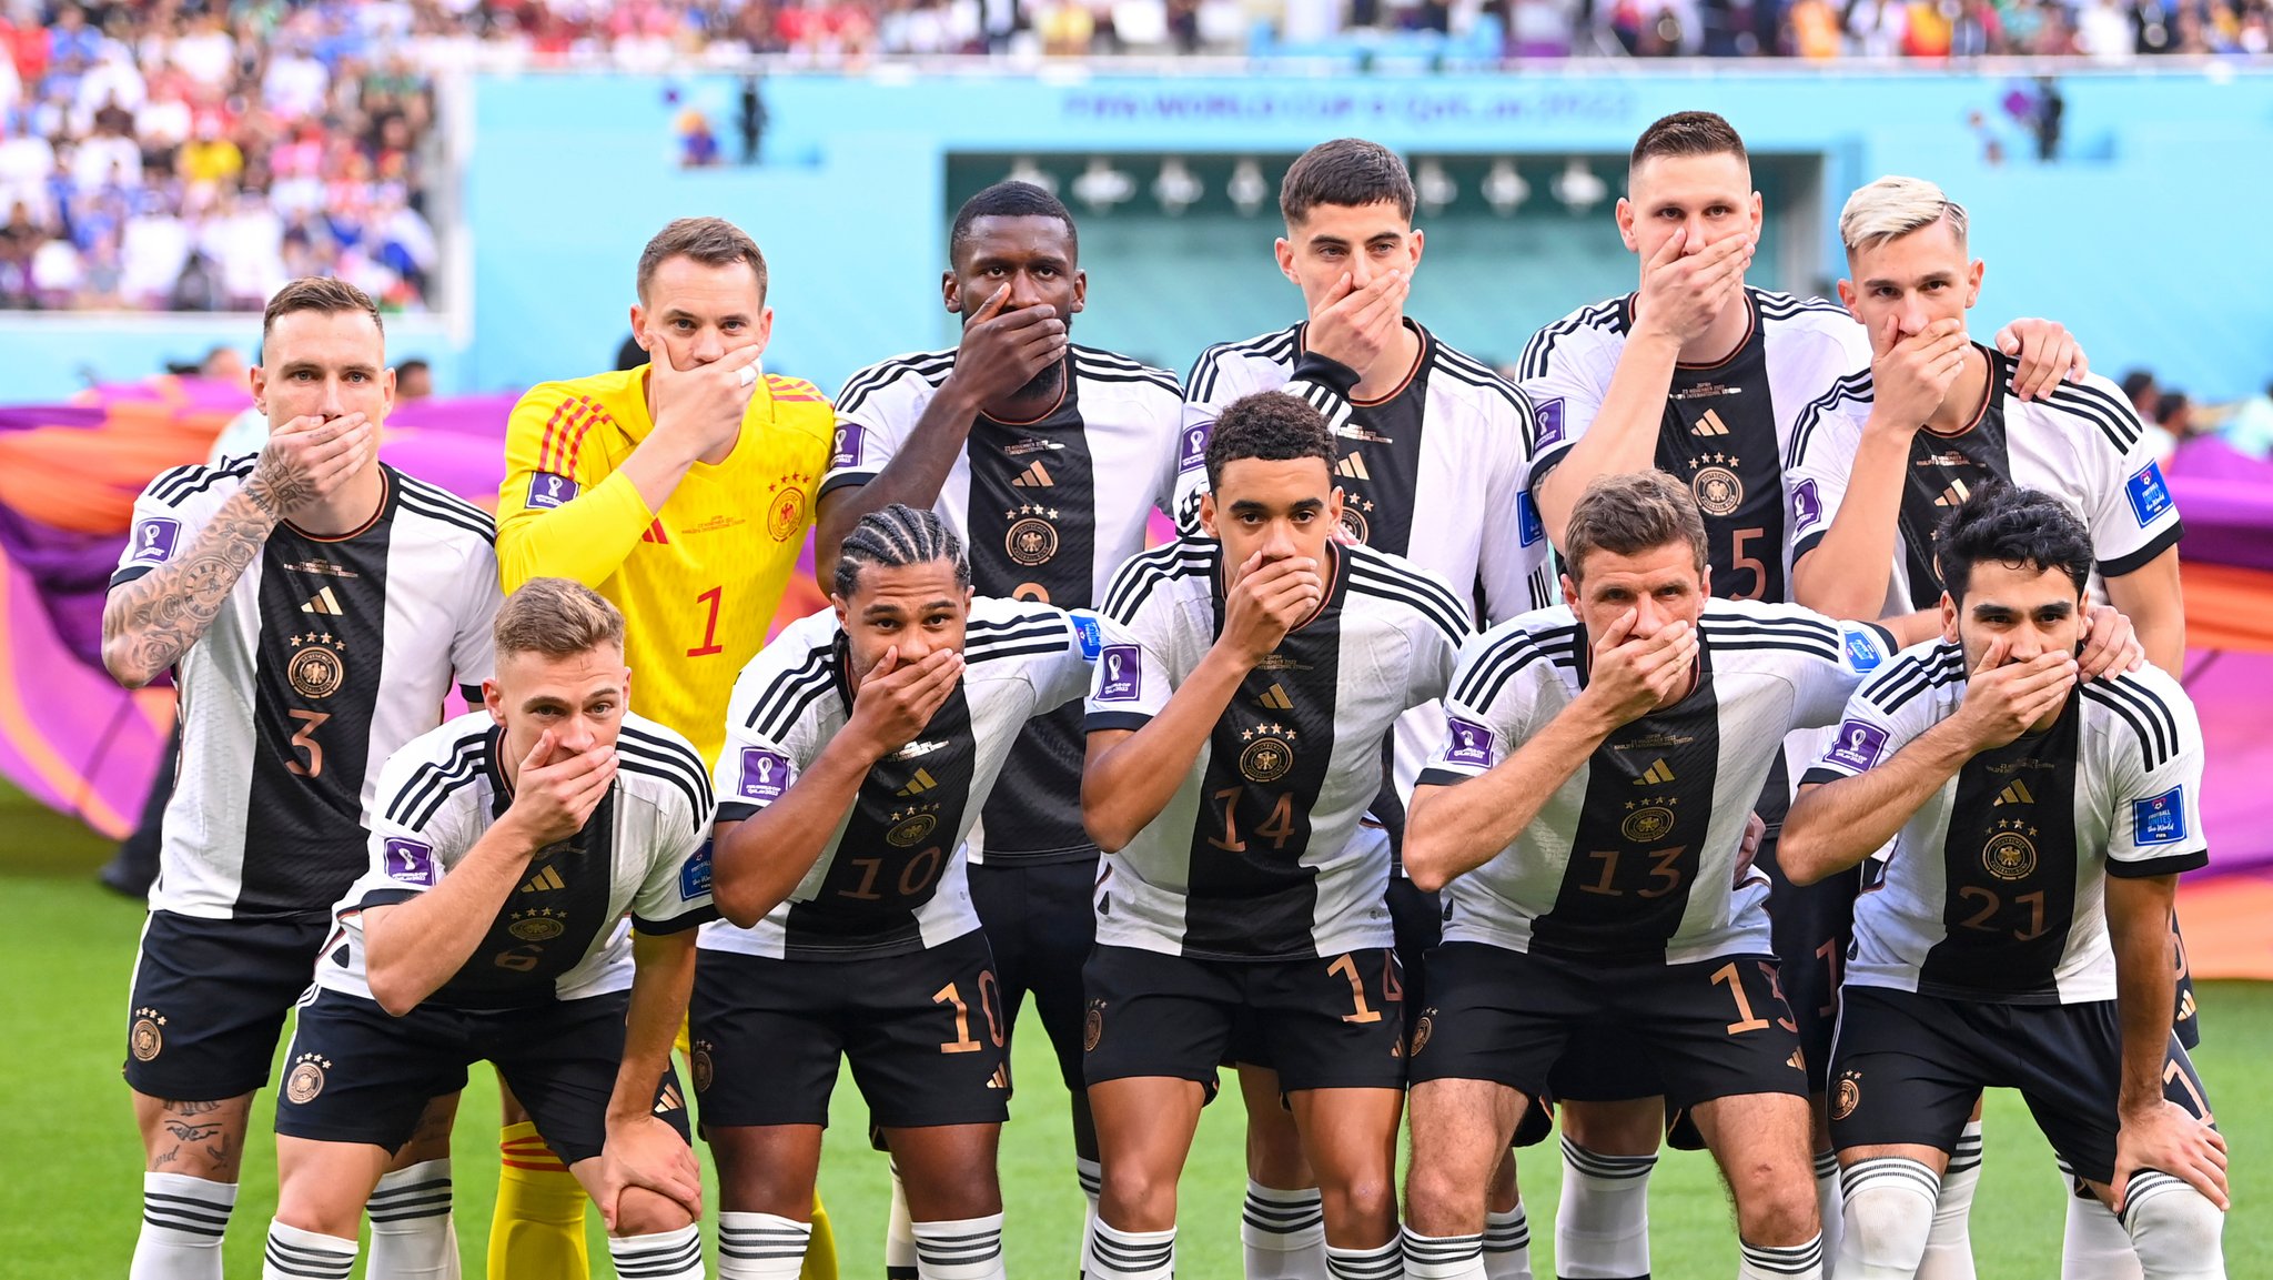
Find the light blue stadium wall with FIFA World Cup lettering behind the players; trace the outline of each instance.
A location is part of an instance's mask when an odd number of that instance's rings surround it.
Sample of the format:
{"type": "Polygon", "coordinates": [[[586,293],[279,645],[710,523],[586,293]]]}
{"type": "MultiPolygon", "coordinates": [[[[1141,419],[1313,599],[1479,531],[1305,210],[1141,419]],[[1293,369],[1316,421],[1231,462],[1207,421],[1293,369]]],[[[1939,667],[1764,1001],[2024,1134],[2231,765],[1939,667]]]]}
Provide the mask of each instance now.
{"type": "MultiPolygon", "coordinates": [[[[1627,68],[1618,68],[1627,70],[1627,68]]],[[[834,389],[852,368],[952,341],[939,307],[946,218],[964,186],[1034,157],[1071,177],[1116,159],[1136,193],[1082,216],[1091,309],[1082,341],[1184,368],[1200,343],[1284,325],[1298,296],[1271,264],[1271,209],[1221,193],[1184,218],[1152,196],[1162,157],[1221,173],[1341,134],[1446,157],[1462,196],[1432,227],[1412,311],[1455,346],[1514,357],[1541,323],[1632,284],[1609,205],[1580,216],[1550,193],[1566,157],[1616,177],[1652,118],[1705,107],[1746,134],[1771,202],[1755,282],[1816,291],[1843,273],[1832,223],[1882,173],[1941,182],[1973,209],[1989,261],[1978,332],[2057,316],[2107,373],[2157,368],[2223,398],[2273,375],[2273,75],[2230,68],[2064,75],[2057,164],[2023,125],[2028,75],[1864,68],[1521,75],[802,77],[764,82],[759,166],[680,168],[675,120],[702,111],[732,157],[736,77],[484,77],[466,166],[471,302],[455,323],[407,321],[396,355],[434,359],[446,391],[525,387],[607,366],[627,334],[632,261],[664,221],[721,214],[773,264],[768,368],[834,389]],[[2003,146],[1989,159],[1987,139],[2003,146]],[[1521,157],[1530,202],[1491,214],[1475,175],[1521,157]],[[950,173],[957,189],[950,191],[950,173]]],[[[1275,157],[1275,159],[1273,159],[1275,157]]],[[[1614,191],[1616,193],[1616,191],[1614,191]]],[[[139,377],[214,341],[250,346],[250,318],[0,318],[0,400],[55,398],[77,377],[139,377]]]]}

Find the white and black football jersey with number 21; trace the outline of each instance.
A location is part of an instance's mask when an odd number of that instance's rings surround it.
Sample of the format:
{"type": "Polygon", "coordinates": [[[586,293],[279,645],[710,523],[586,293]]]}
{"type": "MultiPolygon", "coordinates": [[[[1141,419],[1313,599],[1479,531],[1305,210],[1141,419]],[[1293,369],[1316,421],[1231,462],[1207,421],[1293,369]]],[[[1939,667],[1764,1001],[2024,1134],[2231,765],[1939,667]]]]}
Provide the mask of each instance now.
{"type": "MultiPolygon", "coordinates": [[[[1907,648],[1855,693],[1800,782],[1866,773],[1964,700],[1957,643],[1907,648]]],[[[1975,755],[1909,816],[1884,878],[1855,898],[1846,980],[1989,1003],[2114,1000],[2105,878],[2207,862],[2193,703],[2153,666],[2100,678],[2050,730],[1975,755]]]]}

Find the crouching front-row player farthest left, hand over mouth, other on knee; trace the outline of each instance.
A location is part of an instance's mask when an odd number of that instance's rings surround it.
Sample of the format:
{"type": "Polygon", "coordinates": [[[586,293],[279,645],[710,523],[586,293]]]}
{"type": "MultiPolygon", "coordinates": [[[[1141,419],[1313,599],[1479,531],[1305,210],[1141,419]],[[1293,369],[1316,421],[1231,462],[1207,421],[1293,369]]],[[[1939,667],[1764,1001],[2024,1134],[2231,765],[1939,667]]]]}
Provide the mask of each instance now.
{"type": "Polygon", "coordinates": [[[561,577],[498,609],[486,709],[398,750],[277,1100],[268,1280],[345,1280],[427,1098],[493,1062],[600,1205],[618,1275],[702,1275],[671,1041],[711,919],[711,791],[625,712],[623,614],[561,577]],[[632,916],[630,937],[618,921],[632,916]]]}

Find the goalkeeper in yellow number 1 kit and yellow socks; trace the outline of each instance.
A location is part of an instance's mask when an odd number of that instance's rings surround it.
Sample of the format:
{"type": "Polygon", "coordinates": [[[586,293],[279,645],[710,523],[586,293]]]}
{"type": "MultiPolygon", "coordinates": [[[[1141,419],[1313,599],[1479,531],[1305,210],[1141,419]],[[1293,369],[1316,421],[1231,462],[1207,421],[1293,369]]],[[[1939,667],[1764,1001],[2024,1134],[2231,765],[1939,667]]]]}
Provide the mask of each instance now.
{"type": "MultiPolygon", "coordinates": [[[[734,675],[766,639],[814,518],[834,414],[764,373],[766,255],[723,218],[680,218],[639,255],[632,332],[650,364],[534,387],[514,405],[498,491],[505,589],[573,577],[623,609],[632,709],[725,741],[734,675]]],[[[684,1046],[682,1046],[684,1048],[684,1046]]],[[[584,1194],[507,1098],[489,1273],[582,1280],[584,1194]]],[[[834,1280],[814,1205],[807,1280],[834,1280]]]]}

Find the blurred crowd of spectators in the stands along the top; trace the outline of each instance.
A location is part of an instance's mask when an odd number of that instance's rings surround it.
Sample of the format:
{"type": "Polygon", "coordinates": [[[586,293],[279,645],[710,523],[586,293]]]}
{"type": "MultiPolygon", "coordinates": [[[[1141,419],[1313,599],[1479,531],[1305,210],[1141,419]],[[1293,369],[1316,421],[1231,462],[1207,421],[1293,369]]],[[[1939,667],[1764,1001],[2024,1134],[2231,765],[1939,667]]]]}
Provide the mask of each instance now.
{"type": "Polygon", "coordinates": [[[2273,0],[582,0],[0,11],[0,307],[430,302],[434,75],[902,55],[2264,55],[2273,0]]]}

